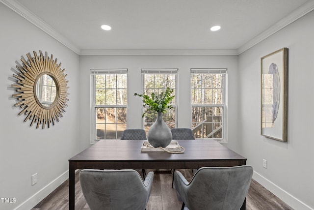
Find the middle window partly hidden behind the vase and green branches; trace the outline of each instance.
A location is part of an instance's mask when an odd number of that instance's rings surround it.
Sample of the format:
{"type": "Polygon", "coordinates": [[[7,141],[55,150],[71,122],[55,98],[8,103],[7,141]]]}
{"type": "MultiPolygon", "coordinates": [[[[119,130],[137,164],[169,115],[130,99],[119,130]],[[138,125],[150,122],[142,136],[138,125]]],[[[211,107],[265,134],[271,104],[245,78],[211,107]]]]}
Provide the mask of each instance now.
{"type": "MultiPolygon", "coordinates": [[[[178,69],[142,69],[143,77],[143,92],[146,94],[159,94],[166,90],[166,88],[173,89],[173,94],[176,95],[176,81],[178,69]]],[[[176,97],[171,103],[174,107],[171,110],[167,110],[167,113],[163,114],[163,121],[169,128],[176,127],[176,97]]],[[[144,107],[145,109],[145,107],[144,107]]],[[[144,117],[144,129],[148,132],[151,125],[156,121],[157,113],[150,112],[144,117]]]]}

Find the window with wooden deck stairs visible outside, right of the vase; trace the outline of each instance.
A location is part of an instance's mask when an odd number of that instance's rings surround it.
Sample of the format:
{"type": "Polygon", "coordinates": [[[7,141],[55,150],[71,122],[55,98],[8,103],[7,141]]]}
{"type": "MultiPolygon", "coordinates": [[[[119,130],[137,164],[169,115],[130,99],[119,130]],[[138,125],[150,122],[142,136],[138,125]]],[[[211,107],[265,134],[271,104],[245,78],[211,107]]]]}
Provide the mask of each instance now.
{"type": "Polygon", "coordinates": [[[226,74],[227,69],[191,69],[195,138],[226,142],[226,74]]]}

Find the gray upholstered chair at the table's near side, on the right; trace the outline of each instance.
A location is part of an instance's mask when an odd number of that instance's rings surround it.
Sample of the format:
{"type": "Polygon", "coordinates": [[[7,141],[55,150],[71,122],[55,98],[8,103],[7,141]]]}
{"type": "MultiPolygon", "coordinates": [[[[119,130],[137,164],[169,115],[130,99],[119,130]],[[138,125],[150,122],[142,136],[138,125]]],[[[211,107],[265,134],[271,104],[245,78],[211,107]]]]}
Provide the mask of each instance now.
{"type": "Polygon", "coordinates": [[[175,187],[189,210],[239,210],[249,190],[252,166],[203,167],[188,182],[175,172],[175,187]]]}

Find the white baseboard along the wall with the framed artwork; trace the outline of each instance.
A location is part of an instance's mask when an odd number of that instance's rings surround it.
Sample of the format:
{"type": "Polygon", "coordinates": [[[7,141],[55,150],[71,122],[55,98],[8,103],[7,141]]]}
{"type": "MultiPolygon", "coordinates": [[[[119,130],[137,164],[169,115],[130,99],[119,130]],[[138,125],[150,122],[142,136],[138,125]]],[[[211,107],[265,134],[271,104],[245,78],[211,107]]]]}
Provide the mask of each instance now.
{"type": "Polygon", "coordinates": [[[269,190],[271,193],[276,195],[278,198],[280,198],[283,202],[288,204],[292,209],[294,210],[314,210],[296,197],[290,195],[287,191],[280,188],[270,180],[267,180],[259,173],[255,172],[253,173],[253,179],[259,182],[263,187],[265,187],[267,190],[269,190]]]}

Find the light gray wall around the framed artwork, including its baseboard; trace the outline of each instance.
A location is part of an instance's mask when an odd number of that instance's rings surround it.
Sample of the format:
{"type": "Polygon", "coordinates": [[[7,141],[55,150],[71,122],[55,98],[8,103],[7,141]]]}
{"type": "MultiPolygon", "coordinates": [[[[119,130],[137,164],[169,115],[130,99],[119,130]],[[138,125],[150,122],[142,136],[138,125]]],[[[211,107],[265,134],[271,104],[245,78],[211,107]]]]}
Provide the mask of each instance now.
{"type": "Polygon", "coordinates": [[[254,179],[296,210],[314,208],[314,12],[239,56],[239,144],[254,179]],[[261,57],[288,50],[288,142],[260,135],[261,57]],[[267,169],[262,168],[267,160],[267,169]]]}

